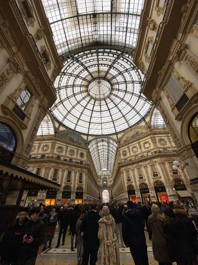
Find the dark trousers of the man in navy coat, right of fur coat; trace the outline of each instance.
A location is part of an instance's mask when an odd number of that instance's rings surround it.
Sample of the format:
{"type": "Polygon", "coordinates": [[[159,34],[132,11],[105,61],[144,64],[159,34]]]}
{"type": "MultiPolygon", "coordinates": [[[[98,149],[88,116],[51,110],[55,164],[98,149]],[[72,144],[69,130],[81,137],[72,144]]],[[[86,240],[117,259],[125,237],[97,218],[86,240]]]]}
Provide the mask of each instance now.
{"type": "Polygon", "coordinates": [[[146,243],[139,246],[131,246],[130,252],[135,265],[149,265],[146,243]]]}

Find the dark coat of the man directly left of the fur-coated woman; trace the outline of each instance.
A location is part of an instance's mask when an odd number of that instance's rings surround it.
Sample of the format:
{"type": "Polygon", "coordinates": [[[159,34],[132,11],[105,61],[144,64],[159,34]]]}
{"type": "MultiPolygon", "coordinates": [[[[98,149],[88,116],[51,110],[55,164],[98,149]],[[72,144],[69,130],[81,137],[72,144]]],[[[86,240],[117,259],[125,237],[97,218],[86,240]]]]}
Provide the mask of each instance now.
{"type": "Polygon", "coordinates": [[[80,231],[84,232],[83,235],[83,247],[98,249],[100,245],[100,240],[97,237],[98,233],[98,221],[100,220],[100,215],[93,210],[90,210],[83,218],[80,225],[80,231]]]}

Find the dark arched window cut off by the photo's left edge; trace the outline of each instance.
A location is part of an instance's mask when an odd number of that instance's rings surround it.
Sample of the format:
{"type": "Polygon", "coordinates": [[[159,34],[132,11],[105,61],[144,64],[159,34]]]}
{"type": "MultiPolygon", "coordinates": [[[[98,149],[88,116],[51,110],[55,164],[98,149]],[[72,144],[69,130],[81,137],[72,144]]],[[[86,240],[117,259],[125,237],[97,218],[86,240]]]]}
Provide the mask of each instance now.
{"type": "Polygon", "coordinates": [[[12,129],[0,122],[0,159],[11,163],[16,150],[16,137],[12,129]]]}

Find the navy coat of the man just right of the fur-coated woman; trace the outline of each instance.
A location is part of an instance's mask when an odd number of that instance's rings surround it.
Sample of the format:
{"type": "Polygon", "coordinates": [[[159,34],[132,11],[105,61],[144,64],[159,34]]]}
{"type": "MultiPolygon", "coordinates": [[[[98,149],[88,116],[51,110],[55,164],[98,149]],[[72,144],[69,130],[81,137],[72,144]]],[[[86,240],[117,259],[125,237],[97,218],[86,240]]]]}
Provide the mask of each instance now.
{"type": "Polygon", "coordinates": [[[126,211],[122,221],[122,237],[125,245],[138,248],[146,244],[144,224],[139,210],[132,208],[126,211]]]}

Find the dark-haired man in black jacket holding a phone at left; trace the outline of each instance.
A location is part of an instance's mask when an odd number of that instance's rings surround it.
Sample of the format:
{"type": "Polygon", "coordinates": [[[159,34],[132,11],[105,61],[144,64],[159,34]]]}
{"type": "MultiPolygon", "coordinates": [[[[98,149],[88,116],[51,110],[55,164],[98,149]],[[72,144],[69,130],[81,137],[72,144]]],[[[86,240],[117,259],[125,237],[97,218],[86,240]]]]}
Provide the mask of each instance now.
{"type": "Polygon", "coordinates": [[[33,207],[29,211],[30,221],[22,231],[23,246],[19,264],[33,265],[36,262],[39,246],[43,244],[45,237],[45,224],[39,214],[39,207],[33,207]]]}

